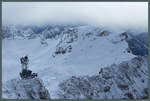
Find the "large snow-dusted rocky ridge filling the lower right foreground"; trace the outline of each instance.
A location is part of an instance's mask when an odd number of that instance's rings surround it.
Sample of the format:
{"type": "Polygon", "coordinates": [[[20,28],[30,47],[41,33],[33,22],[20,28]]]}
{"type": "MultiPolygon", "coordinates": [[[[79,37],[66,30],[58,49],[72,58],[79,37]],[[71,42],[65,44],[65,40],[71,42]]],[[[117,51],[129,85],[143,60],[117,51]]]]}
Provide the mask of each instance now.
{"type": "Polygon", "coordinates": [[[147,57],[135,57],[101,70],[99,75],[71,77],[63,81],[58,96],[66,99],[148,98],[147,57]]]}

